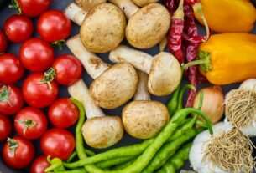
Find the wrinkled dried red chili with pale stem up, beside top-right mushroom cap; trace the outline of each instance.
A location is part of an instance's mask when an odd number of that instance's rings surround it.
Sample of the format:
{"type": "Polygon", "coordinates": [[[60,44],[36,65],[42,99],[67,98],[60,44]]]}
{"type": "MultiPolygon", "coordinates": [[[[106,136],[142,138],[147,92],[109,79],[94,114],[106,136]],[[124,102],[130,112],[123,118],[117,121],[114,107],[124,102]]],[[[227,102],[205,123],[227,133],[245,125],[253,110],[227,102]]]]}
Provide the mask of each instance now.
{"type": "Polygon", "coordinates": [[[170,30],[168,34],[168,48],[180,64],[184,64],[184,56],[181,48],[182,33],[184,29],[184,0],[180,0],[179,7],[175,11],[170,22],[170,30]]]}

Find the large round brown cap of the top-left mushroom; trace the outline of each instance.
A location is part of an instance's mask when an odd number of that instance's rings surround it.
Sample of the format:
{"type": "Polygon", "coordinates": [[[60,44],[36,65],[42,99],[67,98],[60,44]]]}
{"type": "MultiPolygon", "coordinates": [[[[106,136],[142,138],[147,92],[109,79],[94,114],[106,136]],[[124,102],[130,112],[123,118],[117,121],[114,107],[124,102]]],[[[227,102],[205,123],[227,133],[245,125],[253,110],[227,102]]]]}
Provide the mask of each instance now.
{"type": "Polygon", "coordinates": [[[106,53],[122,42],[126,19],[120,8],[101,3],[87,13],[81,24],[81,41],[93,53],[106,53]]]}

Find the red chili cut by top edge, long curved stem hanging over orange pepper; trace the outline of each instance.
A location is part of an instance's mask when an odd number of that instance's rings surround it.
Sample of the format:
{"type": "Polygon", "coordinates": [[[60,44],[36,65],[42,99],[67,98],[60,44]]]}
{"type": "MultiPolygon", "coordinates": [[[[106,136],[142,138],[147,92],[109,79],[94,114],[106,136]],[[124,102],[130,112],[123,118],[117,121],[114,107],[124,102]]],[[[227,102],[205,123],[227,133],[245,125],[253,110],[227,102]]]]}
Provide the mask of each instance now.
{"type": "MultiPolygon", "coordinates": [[[[206,27],[206,38],[203,40],[203,42],[206,42],[210,37],[210,29],[209,29],[208,23],[206,22],[206,18],[202,12],[200,0],[185,0],[185,2],[193,8],[195,13],[198,13],[201,16],[201,19],[206,27]]],[[[194,18],[194,15],[193,15],[193,18],[194,18]]]]}

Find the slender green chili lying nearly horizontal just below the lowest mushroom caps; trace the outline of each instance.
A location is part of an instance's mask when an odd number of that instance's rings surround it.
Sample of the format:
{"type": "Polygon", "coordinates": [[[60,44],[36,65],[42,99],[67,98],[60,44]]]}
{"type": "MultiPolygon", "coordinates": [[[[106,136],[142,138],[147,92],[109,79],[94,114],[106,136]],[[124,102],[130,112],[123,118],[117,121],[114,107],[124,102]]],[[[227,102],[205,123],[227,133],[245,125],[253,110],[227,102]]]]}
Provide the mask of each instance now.
{"type": "Polygon", "coordinates": [[[64,165],[67,168],[75,168],[123,156],[140,155],[151,143],[153,143],[153,141],[154,138],[151,138],[149,140],[144,140],[144,142],[142,142],[141,144],[123,146],[117,149],[107,150],[104,153],[91,156],[89,158],[86,158],[85,160],[76,161],[74,163],[64,163],[64,165]]]}

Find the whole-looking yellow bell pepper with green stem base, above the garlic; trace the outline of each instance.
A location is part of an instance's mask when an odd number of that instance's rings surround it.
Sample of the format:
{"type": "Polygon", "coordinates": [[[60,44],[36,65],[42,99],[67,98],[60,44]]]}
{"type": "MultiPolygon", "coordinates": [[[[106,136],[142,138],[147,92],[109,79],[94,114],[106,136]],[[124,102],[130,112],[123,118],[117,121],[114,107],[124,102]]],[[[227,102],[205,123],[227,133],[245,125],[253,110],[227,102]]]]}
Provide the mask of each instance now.
{"type": "MultiPolygon", "coordinates": [[[[232,84],[256,78],[256,35],[220,33],[201,43],[200,72],[212,84],[232,84]]],[[[200,61],[200,60],[199,60],[200,61]]]]}

